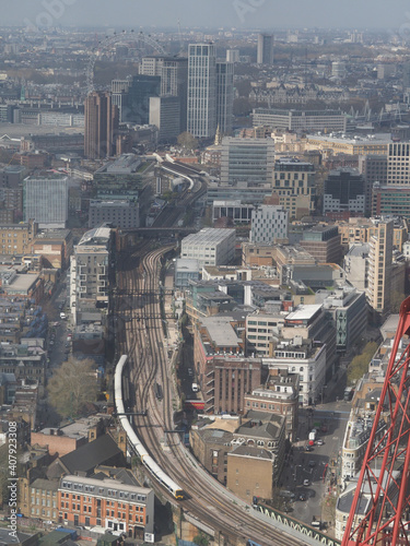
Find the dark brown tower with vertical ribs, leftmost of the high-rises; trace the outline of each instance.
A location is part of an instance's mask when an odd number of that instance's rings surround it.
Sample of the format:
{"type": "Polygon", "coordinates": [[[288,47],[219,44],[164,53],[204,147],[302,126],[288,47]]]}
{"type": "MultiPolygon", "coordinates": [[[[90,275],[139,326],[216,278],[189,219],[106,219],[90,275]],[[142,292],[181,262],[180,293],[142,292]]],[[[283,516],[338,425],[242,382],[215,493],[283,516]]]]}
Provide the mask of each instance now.
{"type": "Polygon", "coordinates": [[[112,94],[94,91],[84,103],[84,155],[98,159],[114,155],[114,142],[118,130],[118,107],[113,105],[112,94]]]}

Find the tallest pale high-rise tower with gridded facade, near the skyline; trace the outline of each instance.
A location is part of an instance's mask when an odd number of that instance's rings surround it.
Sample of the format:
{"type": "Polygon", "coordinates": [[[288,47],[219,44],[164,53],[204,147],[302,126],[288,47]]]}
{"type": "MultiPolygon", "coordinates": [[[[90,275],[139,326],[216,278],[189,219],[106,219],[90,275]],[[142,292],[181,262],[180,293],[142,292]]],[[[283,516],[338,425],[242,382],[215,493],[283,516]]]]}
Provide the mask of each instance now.
{"type": "Polygon", "coordinates": [[[187,130],[207,139],[216,132],[216,52],[214,44],[188,46],[187,130]]]}

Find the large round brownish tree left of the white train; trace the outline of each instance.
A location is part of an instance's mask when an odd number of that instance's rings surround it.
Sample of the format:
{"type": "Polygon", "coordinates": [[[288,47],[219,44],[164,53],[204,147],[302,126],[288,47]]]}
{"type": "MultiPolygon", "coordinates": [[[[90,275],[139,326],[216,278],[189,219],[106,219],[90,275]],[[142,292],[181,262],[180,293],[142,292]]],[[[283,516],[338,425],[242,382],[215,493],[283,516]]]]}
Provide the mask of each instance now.
{"type": "Polygon", "coordinates": [[[50,404],[61,417],[78,417],[86,402],[95,402],[97,380],[95,363],[70,357],[48,383],[50,404]]]}

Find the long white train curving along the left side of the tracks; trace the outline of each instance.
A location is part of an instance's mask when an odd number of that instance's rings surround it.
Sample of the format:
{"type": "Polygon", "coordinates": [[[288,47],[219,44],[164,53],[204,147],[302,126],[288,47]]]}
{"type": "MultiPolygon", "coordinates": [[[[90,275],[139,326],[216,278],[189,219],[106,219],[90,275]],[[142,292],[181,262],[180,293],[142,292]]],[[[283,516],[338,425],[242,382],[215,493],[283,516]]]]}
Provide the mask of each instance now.
{"type": "Polygon", "coordinates": [[[152,456],[147,451],[145,447],[141,440],[136,435],[131,424],[128,420],[124,408],[122,401],[122,370],[127,363],[128,355],[122,355],[117,363],[114,377],[114,400],[117,411],[119,422],[127,435],[129,444],[132,447],[133,451],[140,456],[142,464],[153,474],[153,476],[169,491],[172,495],[178,499],[184,499],[183,489],[167,475],[163,470],[160,468],[159,464],[152,459],[152,456]]]}

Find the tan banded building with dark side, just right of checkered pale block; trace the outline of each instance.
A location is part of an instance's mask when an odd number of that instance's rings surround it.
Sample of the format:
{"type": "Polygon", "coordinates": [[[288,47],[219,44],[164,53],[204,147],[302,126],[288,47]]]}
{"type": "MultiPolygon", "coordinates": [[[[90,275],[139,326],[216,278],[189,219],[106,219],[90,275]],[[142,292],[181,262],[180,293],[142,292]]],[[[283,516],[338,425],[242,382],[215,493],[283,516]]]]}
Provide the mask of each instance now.
{"type": "Polygon", "coordinates": [[[342,248],[337,226],[316,226],[304,230],[301,247],[319,263],[339,263],[341,260],[342,248]]]}

